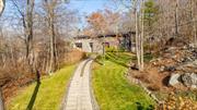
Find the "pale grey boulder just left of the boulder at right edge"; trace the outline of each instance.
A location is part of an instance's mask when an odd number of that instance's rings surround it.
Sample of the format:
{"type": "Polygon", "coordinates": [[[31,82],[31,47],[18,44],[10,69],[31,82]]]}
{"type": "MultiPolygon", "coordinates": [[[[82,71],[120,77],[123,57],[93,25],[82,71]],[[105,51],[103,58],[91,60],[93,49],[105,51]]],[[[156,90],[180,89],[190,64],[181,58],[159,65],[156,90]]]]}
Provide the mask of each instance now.
{"type": "Polygon", "coordinates": [[[169,81],[169,85],[175,86],[175,85],[179,84],[179,76],[181,76],[179,74],[171,75],[170,81],[169,81]]]}

